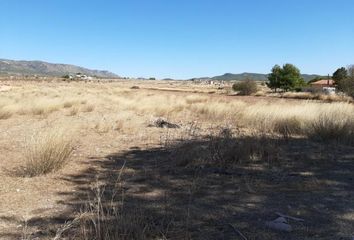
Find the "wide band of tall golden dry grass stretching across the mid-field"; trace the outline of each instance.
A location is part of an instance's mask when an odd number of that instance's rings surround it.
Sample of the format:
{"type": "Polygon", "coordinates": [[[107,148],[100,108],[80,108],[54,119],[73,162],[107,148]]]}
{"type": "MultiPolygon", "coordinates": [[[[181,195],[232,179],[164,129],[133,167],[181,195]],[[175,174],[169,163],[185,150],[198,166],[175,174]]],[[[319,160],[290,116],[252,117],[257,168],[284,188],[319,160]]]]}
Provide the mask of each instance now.
{"type": "MultiPolygon", "coordinates": [[[[101,114],[107,110],[122,116],[132,114],[135,117],[126,119],[124,125],[137,129],[140,123],[133,122],[137,117],[143,117],[146,121],[151,117],[165,117],[172,122],[182,123],[230,123],[260,132],[277,133],[287,138],[302,135],[321,140],[350,140],[353,132],[354,107],[347,102],[279,100],[246,103],[200,93],[156,93],[144,89],[132,91],[128,85],[122,87],[119,84],[88,84],[82,87],[82,84],[73,83],[57,88],[40,89],[38,86],[31,86],[16,91],[18,92],[7,92],[1,96],[0,119],[16,114],[48,116],[63,108],[70,108],[66,111],[70,116],[77,115],[78,111],[97,111],[101,114]]],[[[287,93],[284,97],[308,99],[314,96],[308,93],[287,93]]],[[[116,118],[112,121],[114,120],[116,118]]],[[[97,128],[103,133],[115,129],[101,126],[97,128]]]]}

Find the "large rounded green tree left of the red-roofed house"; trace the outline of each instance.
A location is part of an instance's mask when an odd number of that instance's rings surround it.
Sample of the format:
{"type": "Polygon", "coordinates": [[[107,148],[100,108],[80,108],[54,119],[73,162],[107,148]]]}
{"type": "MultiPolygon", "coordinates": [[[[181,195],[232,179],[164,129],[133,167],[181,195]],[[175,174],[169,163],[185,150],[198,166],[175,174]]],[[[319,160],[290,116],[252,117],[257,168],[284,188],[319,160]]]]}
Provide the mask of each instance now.
{"type": "Polygon", "coordinates": [[[287,63],[280,67],[275,65],[268,75],[267,86],[275,91],[281,88],[285,91],[294,90],[305,85],[300,70],[293,64],[287,63]]]}

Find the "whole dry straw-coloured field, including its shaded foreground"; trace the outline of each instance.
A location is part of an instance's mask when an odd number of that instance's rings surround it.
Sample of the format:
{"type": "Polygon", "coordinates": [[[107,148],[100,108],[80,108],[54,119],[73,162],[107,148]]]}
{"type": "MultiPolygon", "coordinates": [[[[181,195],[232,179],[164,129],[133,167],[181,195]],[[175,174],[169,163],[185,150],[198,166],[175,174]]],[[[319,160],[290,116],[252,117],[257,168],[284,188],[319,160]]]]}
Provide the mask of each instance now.
{"type": "Polygon", "coordinates": [[[0,85],[0,239],[354,237],[351,103],[0,85]],[[291,231],[267,226],[277,213],[291,231]]]}

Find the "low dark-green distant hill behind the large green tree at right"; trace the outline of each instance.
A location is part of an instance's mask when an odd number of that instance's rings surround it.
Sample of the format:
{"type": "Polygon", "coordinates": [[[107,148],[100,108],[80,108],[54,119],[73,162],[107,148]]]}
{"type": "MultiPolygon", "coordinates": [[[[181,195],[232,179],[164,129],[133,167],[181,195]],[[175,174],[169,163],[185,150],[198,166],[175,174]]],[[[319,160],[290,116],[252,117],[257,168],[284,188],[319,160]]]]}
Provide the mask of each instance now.
{"type": "MultiPolygon", "coordinates": [[[[302,77],[306,82],[314,79],[314,78],[321,78],[322,76],[316,75],[316,74],[302,74],[302,77]]],[[[236,80],[236,81],[243,81],[246,79],[251,79],[255,81],[267,81],[268,80],[268,74],[262,74],[262,73],[239,73],[239,74],[234,74],[234,73],[225,73],[220,76],[215,76],[215,77],[201,77],[201,78],[193,78],[194,80],[222,80],[222,81],[231,81],[231,80],[236,80]]]]}

